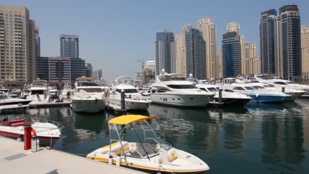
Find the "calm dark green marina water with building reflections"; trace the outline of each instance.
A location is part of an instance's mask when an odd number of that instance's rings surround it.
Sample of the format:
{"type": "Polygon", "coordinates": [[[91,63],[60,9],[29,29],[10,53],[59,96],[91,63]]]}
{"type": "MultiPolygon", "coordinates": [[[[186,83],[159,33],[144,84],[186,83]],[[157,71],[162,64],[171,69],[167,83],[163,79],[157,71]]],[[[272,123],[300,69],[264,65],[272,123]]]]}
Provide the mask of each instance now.
{"type": "MultiPolygon", "coordinates": [[[[151,105],[139,114],[156,115],[174,146],[204,160],[209,173],[309,173],[308,102],[222,109],[151,105]]],[[[113,114],[69,107],[30,109],[30,114],[65,126],[53,149],[87,154],[109,143],[113,114]]]]}

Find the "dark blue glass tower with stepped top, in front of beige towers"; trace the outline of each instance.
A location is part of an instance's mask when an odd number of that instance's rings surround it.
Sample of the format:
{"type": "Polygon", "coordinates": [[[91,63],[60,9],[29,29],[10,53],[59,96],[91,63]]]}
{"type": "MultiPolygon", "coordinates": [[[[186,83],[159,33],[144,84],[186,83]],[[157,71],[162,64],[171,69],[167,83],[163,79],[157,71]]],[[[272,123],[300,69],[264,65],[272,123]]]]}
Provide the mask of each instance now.
{"type": "Polygon", "coordinates": [[[236,32],[223,35],[222,71],[223,78],[236,77],[241,74],[240,36],[236,32]]]}

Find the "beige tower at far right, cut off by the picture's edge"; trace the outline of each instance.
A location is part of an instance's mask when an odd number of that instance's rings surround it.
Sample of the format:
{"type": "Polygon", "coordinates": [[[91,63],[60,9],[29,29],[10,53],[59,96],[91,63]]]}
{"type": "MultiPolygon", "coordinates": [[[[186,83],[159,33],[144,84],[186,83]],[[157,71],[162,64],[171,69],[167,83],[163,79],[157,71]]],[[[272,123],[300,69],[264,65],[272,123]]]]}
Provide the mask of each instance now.
{"type": "Polygon", "coordinates": [[[309,25],[301,25],[301,72],[309,73],[309,25]]]}

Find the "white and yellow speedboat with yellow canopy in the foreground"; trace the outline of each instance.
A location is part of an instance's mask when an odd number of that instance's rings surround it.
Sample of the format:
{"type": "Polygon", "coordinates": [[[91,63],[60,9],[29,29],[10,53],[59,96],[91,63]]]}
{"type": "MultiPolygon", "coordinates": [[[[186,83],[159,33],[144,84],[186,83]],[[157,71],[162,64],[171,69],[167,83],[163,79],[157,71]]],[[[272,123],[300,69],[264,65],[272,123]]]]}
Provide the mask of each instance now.
{"type": "Polygon", "coordinates": [[[110,144],[89,153],[87,158],[148,172],[194,173],[209,170],[209,166],[198,157],[174,148],[165,132],[166,139],[158,136],[152,129],[154,124],[158,124],[157,128],[164,132],[156,117],[123,115],[109,120],[110,144]],[[135,133],[138,141],[123,140],[128,132],[135,133]],[[142,136],[138,132],[143,132],[142,136]]]}

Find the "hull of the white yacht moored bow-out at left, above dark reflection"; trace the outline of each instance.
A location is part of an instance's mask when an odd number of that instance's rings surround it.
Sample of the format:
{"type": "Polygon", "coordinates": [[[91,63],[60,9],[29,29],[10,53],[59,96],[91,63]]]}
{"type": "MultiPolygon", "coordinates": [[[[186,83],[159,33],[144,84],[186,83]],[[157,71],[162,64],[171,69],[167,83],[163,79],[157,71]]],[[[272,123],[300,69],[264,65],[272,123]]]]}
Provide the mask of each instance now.
{"type": "Polygon", "coordinates": [[[72,108],[77,112],[100,112],[106,107],[105,98],[75,98],[72,99],[72,108]]]}

